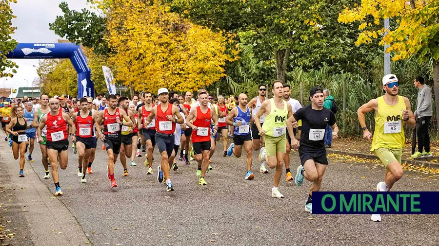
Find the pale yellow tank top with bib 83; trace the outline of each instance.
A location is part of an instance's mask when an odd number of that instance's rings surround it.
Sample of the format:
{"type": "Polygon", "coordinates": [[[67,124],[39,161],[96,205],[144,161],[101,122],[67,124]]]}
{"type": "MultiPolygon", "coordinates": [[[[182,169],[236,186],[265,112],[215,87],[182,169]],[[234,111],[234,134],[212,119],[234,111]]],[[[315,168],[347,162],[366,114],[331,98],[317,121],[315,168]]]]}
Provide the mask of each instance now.
{"type": "Polygon", "coordinates": [[[271,111],[265,116],[262,130],[265,130],[265,135],[269,137],[282,137],[286,134],[286,121],[288,120],[288,106],[285,101],[283,108],[276,107],[274,99],[270,99],[271,111]]]}

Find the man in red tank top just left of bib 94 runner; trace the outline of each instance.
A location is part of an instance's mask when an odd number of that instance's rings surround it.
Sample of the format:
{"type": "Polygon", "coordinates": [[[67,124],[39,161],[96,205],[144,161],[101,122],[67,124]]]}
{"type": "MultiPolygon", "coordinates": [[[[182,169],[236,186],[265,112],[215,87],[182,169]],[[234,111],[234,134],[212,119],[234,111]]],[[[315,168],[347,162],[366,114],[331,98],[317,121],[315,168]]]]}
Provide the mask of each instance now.
{"type": "Polygon", "coordinates": [[[152,156],[154,153],[154,147],[156,146],[156,118],[152,118],[148,124],[146,124],[146,119],[151,114],[151,110],[156,105],[152,103],[152,94],[149,91],[146,91],[143,94],[145,98],[145,105],[140,107],[138,117],[140,117],[141,121],[137,123],[139,129],[143,129],[143,141],[142,144],[146,144],[147,146],[147,155],[145,159],[145,166],[148,166],[147,175],[152,175],[152,156]]]}

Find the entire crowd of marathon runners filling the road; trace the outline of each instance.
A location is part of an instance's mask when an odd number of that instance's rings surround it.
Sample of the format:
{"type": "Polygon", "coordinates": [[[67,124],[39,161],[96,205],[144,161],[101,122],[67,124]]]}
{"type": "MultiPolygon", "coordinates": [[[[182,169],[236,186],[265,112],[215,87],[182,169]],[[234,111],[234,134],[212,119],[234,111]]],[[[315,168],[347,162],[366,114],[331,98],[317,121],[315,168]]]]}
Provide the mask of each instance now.
{"type": "MultiPolygon", "coordinates": [[[[378,192],[389,191],[402,177],[403,126],[415,126],[409,100],[399,95],[396,75],[384,76],[382,89],[383,96],[358,109],[364,138],[373,139],[372,151],[386,167],[384,179],[377,185],[378,192]],[[365,114],[371,111],[375,112],[373,136],[365,121],[365,114]]],[[[112,188],[118,186],[114,173],[118,158],[124,169],[122,176],[128,176],[127,158],[130,166],[136,166],[135,157],[142,158],[144,153],[146,174],[157,175],[158,182],[171,192],[175,189],[171,170],[179,168],[177,160],[184,164],[195,160],[198,167],[194,168],[194,175],[200,185],[207,185],[215,145],[222,140],[224,158],[232,155],[240,158],[242,150],[245,151],[245,163],[241,163],[244,179],[256,178],[252,152],[259,151],[259,173],[269,175],[266,167],[274,170],[272,197],[284,197],[278,188],[283,168],[286,181],[294,180],[297,186],[305,179],[311,182],[305,211],[312,212],[312,193],[320,190],[328,165],[325,131],[329,125],[333,138],[339,133],[335,114],[323,107],[324,93],[318,86],[310,90],[311,105],[304,107],[290,98],[290,86],[281,81],[259,85],[258,93],[251,99],[246,94],[232,100],[220,95],[214,102],[213,96],[204,89],[197,91],[195,100],[190,91],[182,95],[160,88],[157,93],[141,92],[131,100],[118,94],[106,98],[98,95],[96,99],[80,98],[71,104],[64,97],[50,98],[41,94],[40,103],[27,101],[12,107],[5,103],[7,109],[1,108],[0,117],[3,130],[11,137],[13,156],[20,158],[20,177],[24,176],[24,153],[29,150],[28,160],[34,161],[32,151],[36,139],[45,169],[44,178],[52,176],[55,195],[62,195],[58,166],[66,169],[70,142],[78,154],[81,183],[87,182],[86,175],[93,173],[92,164],[100,140],[108,156],[108,179],[112,188]],[[269,90],[272,98],[267,97],[269,90]],[[299,149],[300,158],[295,176],[290,171],[289,155],[293,148],[299,149]],[[160,160],[154,161],[154,151],[159,151],[160,160]]],[[[381,218],[374,214],[371,220],[381,221],[381,218]]]]}

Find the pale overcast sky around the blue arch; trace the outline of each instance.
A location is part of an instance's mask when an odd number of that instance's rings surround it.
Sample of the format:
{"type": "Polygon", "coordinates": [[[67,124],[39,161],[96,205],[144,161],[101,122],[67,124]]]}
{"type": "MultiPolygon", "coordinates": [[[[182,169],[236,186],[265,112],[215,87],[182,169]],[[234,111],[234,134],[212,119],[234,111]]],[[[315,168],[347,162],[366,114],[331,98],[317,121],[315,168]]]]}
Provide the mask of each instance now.
{"type": "MultiPolygon", "coordinates": [[[[62,15],[59,7],[65,1],[70,9],[80,11],[89,8],[87,0],[18,0],[11,3],[13,14],[17,16],[12,24],[17,27],[12,38],[19,43],[53,43],[61,39],[60,36],[49,30],[49,23],[62,15]]],[[[13,59],[19,65],[13,78],[1,78],[0,88],[31,87],[34,78],[38,77],[38,59],[13,59]],[[27,82],[27,81],[28,82],[27,82]],[[1,83],[3,82],[3,83],[1,83]]]]}

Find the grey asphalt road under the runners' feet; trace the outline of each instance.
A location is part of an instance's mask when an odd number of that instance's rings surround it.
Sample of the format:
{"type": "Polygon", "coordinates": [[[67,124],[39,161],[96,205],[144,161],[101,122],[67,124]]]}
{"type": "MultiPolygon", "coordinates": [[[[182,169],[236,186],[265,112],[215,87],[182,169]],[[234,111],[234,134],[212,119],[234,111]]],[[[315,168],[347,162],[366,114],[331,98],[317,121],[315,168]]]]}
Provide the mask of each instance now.
{"type": "MultiPolygon", "coordinates": [[[[285,181],[285,174],[279,185],[285,198],[272,198],[274,171],[259,174],[259,152],[253,153],[255,179],[244,180],[245,159],[223,158],[222,143],[212,158],[214,170],[206,176],[207,186],[198,184],[195,161],[187,166],[179,163],[180,169],[171,171],[176,190],[167,193],[156,179],[160,161],[156,150],[154,175],[146,175],[142,153],[136,158],[138,165],[128,167],[128,177],[122,177],[117,162],[119,187],[111,189],[101,144],[98,141],[87,183],[80,183],[76,175],[78,161],[72,148],[67,169],[59,171],[64,195],[57,199],[73,213],[93,245],[439,245],[439,215],[383,215],[377,223],[369,215],[310,214],[304,206],[311,184],[305,180],[297,187],[285,181]]],[[[53,180],[42,179],[38,144],[33,158],[32,168],[54,193],[53,180]]],[[[295,173],[297,152],[291,153],[291,163],[295,173]]],[[[26,165],[29,168],[29,162],[26,165]]],[[[330,161],[321,190],[372,191],[384,176],[384,169],[374,166],[330,161]]],[[[419,177],[406,172],[393,191],[439,190],[438,181],[419,177]]]]}

